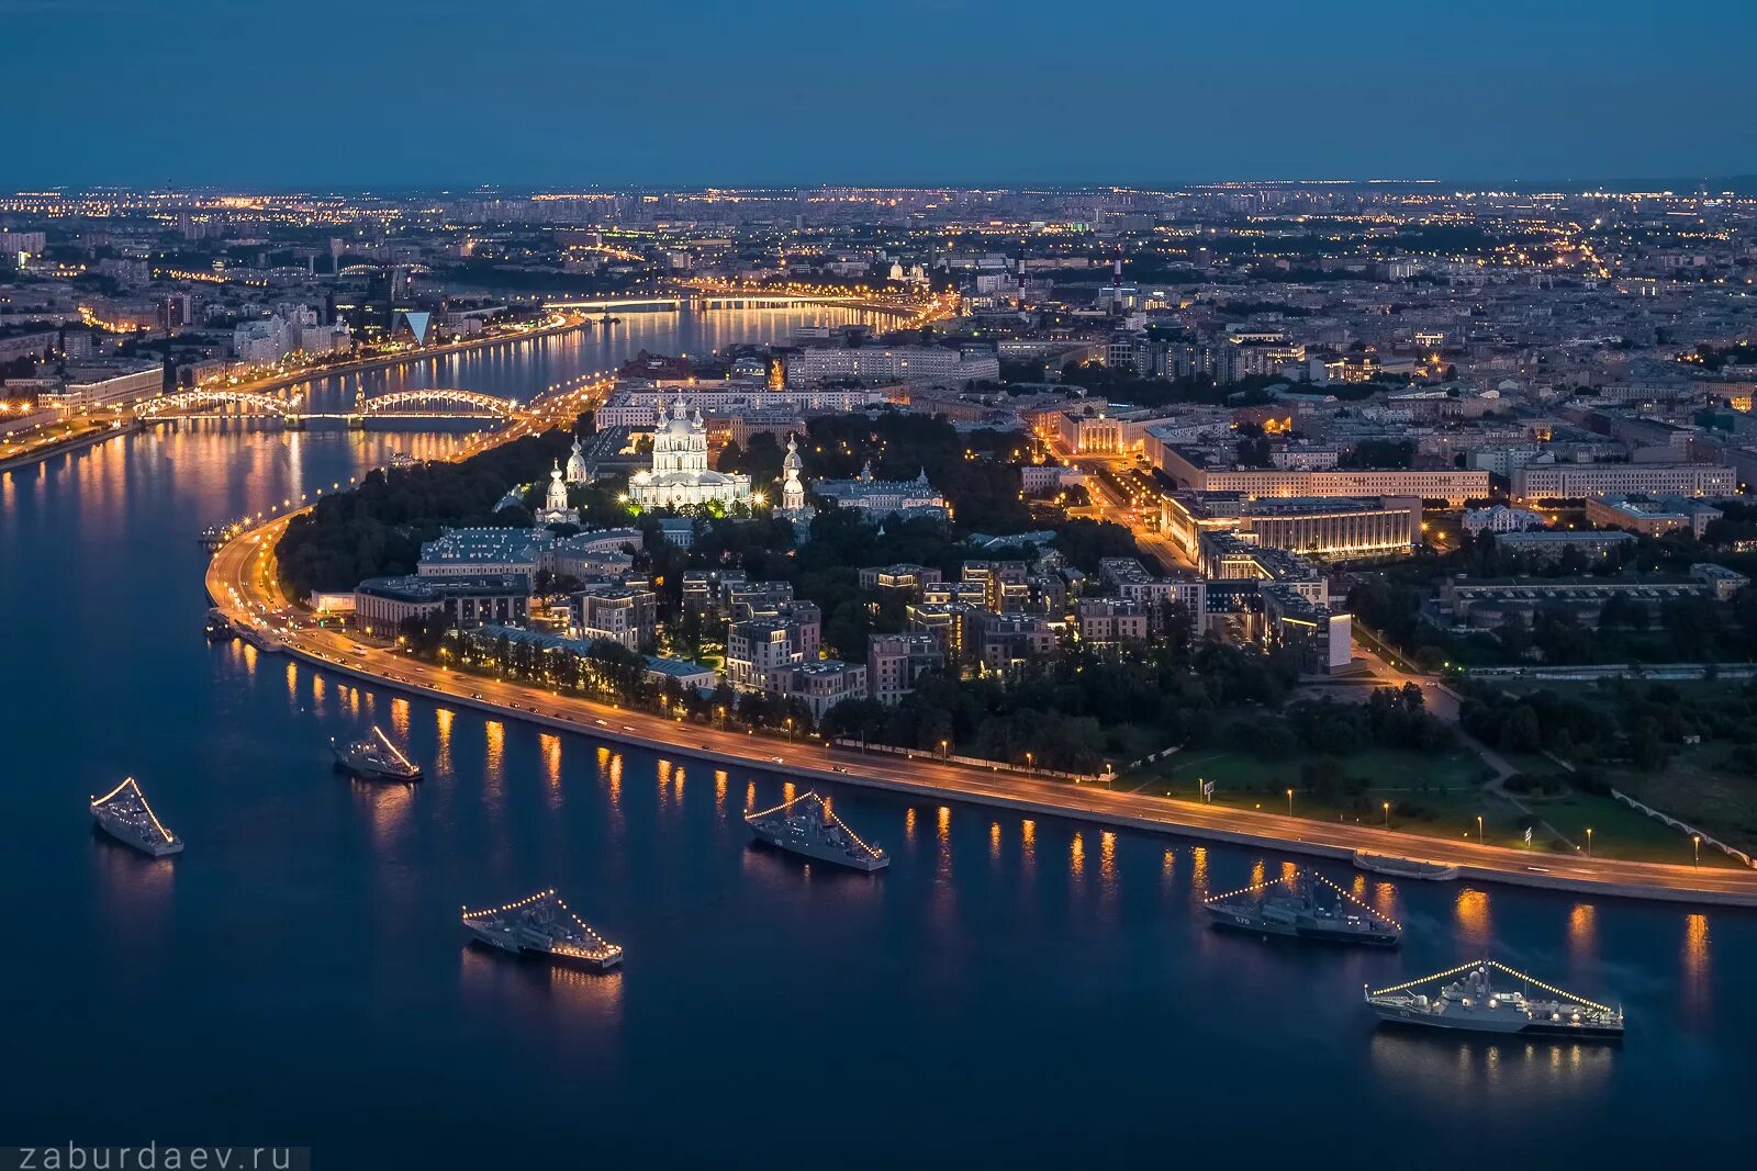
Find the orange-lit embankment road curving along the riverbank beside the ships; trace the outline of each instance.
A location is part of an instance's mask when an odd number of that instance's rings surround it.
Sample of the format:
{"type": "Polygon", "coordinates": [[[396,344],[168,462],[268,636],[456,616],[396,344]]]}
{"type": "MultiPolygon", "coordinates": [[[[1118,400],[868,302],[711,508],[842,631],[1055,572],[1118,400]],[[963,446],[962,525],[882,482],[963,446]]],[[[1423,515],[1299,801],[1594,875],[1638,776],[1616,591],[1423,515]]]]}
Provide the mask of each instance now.
{"type": "MultiPolygon", "coordinates": [[[[302,509],[300,509],[302,511],[302,509]]],[[[278,632],[269,616],[295,613],[274,578],[272,539],[288,516],[274,518],[223,544],[207,565],[206,588],[214,606],[253,646],[288,653],[334,674],[418,695],[457,708],[557,730],[691,757],[719,765],[857,785],[936,802],[963,802],[1089,822],[1188,839],[1353,860],[1356,850],[1416,857],[1458,867],[1460,880],[1504,883],[1567,894],[1590,894],[1662,902],[1757,908],[1757,871],[1666,866],[1527,855],[1504,846],[1453,843],[1372,827],[1330,825],[1286,818],[1279,813],[1221,809],[1165,797],[1116,794],[1096,787],[1044,781],[1017,772],[982,771],[921,757],[875,760],[813,741],[789,743],[701,723],[683,723],[643,711],[625,711],[575,695],[485,676],[452,672],[387,650],[362,648],[351,637],[323,629],[278,632]],[[260,585],[258,585],[260,581],[260,585]],[[235,599],[235,600],[232,600],[235,599]],[[262,613],[253,618],[251,609],[262,613]],[[450,683],[459,686],[452,688],[450,683]],[[1546,866],[1536,866],[1543,862],[1546,866]]]]}

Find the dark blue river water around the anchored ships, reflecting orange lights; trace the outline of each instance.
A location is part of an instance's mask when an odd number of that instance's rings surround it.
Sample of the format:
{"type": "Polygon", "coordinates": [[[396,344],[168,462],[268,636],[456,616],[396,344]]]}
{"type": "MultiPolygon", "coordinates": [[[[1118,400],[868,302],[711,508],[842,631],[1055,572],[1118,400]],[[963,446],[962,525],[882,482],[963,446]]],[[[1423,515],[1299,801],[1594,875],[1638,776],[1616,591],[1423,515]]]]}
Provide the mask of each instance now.
{"type": "MultiPolygon", "coordinates": [[[[573,349],[527,381],[460,372],[517,393],[615,356],[573,349]]],[[[747,846],[740,811],[785,778],[202,641],[202,523],[446,442],[213,423],[0,476],[0,1143],[293,1143],[318,1167],[1748,1157],[1748,913],[1332,869],[1404,952],[1272,948],[1197,904],[1281,857],[859,790],[838,811],[896,860],[831,874],[747,846]],[[369,722],[423,785],[329,771],[369,722]],[[181,858],[91,834],[86,797],[128,772],[181,858]],[[625,971],[464,946],[460,904],[552,885],[625,971]],[[1627,1043],[1377,1032],[1358,1004],[1479,953],[1627,1004],[1627,1043]]]]}

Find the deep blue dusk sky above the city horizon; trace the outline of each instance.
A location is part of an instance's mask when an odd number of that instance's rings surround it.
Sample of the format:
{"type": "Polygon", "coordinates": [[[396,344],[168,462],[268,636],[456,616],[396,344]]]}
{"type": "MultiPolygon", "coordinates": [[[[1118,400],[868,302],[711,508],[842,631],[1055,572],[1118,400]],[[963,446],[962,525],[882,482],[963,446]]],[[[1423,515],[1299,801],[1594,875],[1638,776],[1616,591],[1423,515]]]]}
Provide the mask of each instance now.
{"type": "Polygon", "coordinates": [[[1757,172],[1752,0],[0,0],[0,188],[1757,172]]]}

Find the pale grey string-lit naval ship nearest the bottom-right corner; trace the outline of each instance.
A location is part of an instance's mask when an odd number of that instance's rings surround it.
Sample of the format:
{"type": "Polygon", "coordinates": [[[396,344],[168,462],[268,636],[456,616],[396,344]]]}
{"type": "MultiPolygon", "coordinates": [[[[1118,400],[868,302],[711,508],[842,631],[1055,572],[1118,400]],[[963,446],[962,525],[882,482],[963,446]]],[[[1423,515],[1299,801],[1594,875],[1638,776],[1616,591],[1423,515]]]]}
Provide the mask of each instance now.
{"type": "Polygon", "coordinates": [[[1620,1041],[1623,1036],[1622,1008],[1564,992],[1495,960],[1471,960],[1421,980],[1365,992],[1365,999],[1381,1022],[1395,1025],[1583,1041],[1620,1041]],[[1492,973],[1509,976],[1522,987],[1497,988],[1492,973]],[[1421,992],[1432,985],[1439,985],[1435,995],[1421,992]]]}

